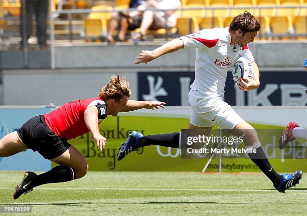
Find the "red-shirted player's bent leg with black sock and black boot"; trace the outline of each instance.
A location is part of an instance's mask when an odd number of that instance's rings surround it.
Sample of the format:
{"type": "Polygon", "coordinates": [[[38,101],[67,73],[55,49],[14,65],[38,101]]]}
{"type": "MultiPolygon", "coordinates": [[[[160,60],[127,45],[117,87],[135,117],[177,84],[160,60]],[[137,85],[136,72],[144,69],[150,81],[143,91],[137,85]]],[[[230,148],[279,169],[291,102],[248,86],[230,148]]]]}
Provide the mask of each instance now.
{"type": "Polygon", "coordinates": [[[27,171],[24,179],[16,187],[13,198],[19,198],[23,193],[32,191],[34,187],[48,184],[71,181],[83,177],[88,171],[88,164],[83,155],[74,146],[70,146],[62,155],[51,159],[60,164],[40,175],[27,171]]]}

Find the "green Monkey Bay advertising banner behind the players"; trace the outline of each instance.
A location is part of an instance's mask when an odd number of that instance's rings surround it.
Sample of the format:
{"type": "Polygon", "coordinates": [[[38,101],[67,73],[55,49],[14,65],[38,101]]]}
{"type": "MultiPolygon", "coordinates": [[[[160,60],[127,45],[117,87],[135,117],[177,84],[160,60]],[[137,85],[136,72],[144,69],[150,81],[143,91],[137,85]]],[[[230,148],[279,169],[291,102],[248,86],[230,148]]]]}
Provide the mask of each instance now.
{"type": "MultiPolygon", "coordinates": [[[[234,109],[255,128],[265,129],[263,131],[266,131],[268,138],[262,145],[276,171],[291,172],[294,169],[307,171],[305,151],[297,152],[289,148],[281,153],[278,148],[279,136],[286,126],[285,114],[286,118],[300,122],[301,116],[307,116],[305,107],[234,107],[234,109]],[[269,130],[275,134],[269,136],[269,130]]],[[[181,149],[160,146],[139,148],[138,151],[117,161],[118,147],[126,140],[130,131],[137,130],[144,135],[180,132],[181,129],[187,128],[190,113],[189,107],[167,107],[159,111],[143,109],[121,113],[117,117],[110,116],[99,125],[101,134],[107,139],[104,152],[97,149],[91,133],[69,142],[81,151],[89,163],[89,170],[92,171],[202,171],[208,157],[185,159],[182,157],[181,149]]],[[[302,123],[302,126],[307,126],[306,122],[302,123]]],[[[298,144],[303,145],[305,149],[307,140],[298,140],[298,144]]],[[[241,147],[244,148],[243,145],[241,147]]],[[[223,155],[221,165],[223,172],[259,171],[248,157],[223,155]]],[[[217,157],[210,162],[206,171],[218,171],[217,157]]]]}

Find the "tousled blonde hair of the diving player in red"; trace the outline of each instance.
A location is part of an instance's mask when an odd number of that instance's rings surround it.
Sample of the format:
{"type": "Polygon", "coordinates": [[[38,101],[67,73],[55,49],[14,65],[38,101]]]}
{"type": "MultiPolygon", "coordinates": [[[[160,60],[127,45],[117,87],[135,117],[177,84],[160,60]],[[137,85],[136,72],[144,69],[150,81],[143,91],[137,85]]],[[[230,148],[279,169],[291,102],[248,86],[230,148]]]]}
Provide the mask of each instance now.
{"type": "Polygon", "coordinates": [[[119,75],[111,76],[110,82],[100,89],[99,97],[103,100],[115,99],[116,102],[123,100],[123,97],[131,96],[131,90],[129,89],[129,82],[125,77],[119,77],[119,75]]]}

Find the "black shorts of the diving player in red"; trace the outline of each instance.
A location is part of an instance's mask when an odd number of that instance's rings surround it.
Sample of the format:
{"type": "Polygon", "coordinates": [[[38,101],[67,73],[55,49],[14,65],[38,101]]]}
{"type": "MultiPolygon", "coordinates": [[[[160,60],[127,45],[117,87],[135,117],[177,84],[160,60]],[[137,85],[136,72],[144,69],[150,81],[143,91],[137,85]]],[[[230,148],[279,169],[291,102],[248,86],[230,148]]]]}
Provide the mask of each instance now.
{"type": "Polygon", "coordinates": [[[70,146],[46,125],[43,115],[31,118],[17,133],[29,148],[38,151],[46,159],[62,155],[70,146]]]}

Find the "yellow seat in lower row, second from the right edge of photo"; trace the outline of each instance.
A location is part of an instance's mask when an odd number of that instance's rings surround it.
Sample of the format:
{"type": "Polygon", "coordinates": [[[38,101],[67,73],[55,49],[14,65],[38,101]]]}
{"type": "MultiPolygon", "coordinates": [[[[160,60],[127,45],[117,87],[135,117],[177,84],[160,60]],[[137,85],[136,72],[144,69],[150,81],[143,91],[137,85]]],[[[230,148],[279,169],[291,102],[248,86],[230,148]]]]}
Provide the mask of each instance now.
{"type": "MultiPolygon", "coordinates": [[[[270,27],[272,34],[293,34],[293,22],[291,16],[271,17],[270,27]]],[[[275,36],[274,39],[291,39],[291,36],[275,36]]]]}

